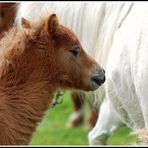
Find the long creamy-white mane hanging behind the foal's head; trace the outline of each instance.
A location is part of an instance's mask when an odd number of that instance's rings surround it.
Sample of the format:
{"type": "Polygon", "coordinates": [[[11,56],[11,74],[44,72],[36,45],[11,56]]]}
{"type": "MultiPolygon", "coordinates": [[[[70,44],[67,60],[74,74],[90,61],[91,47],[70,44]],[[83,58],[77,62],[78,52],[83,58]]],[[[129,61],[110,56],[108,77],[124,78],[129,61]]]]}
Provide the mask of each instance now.
{"type": "Polygon", "coordinates": [[[131,3],[24,2],[18,6],[16,23],[20,27],[21,17],[33,19],[44,13],[56,13],[60,22],[77,34],[84,49],[105,67],[113,32],[120,27],[131,6],[131,3]]]}

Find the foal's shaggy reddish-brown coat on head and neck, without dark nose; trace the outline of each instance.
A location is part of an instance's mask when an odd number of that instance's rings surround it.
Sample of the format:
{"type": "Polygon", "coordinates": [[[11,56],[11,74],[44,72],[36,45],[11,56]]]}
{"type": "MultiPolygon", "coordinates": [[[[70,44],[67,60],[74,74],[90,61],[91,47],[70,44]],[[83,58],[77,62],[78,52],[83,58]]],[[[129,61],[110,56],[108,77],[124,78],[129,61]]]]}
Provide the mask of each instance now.
{"type": "Polygon", "coordinates": [[[58,87],[96,89],[99,66],[55,14],[22,26],[0,41],[0,144],[28,144],[58,87]]]}

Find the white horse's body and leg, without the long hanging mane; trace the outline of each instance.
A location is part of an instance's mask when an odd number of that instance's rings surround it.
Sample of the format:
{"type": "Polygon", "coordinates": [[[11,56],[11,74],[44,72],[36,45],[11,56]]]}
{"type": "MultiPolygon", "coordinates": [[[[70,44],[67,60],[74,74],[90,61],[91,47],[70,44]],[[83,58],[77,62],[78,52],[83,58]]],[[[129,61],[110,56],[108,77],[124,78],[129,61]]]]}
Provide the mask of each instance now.
{"type": "Polygon", "coordinates": [[[106,67],[106,103],[89,133],[91,144],[101,144],[103,138],[105,142],[122,122],[134,131],[148,128],[147,7],[148,3],[134,4],[114,34],[106,67]]]}

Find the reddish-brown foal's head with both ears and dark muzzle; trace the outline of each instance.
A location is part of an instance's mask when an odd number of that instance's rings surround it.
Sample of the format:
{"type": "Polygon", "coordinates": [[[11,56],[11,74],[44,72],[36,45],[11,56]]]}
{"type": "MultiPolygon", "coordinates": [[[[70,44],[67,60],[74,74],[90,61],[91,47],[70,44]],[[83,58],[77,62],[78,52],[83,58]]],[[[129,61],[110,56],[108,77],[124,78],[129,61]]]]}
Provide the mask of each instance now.
{"type": "Polygon", "coordinates": [[[60,87],[95,90],[104,83],[104,70],[86,54],[76,35],[59,24],[56,14],[47,17],[40,26],[36,24],[22,19],[26,30],[38,30],[36,47],[43,47],[49,55],[45,58],[53,65],[50,70],[57,75],[56,83],[60,87]]]}

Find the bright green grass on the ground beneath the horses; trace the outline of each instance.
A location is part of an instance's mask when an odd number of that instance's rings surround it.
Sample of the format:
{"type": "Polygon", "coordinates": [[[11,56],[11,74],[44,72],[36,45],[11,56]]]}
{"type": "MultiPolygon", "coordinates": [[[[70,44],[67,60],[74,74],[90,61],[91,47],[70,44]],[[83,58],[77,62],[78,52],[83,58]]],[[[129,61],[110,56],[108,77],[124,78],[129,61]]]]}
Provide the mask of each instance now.
{"type": "MultiPolygon", "coordinates": [[[[55,108],[49,109],[38,125],[30,145],[88,145],[87,135],[90,128],[87,125],[89,107],[85,104],[85,122],[76,128],[67,128],[66,123],[73,104],[69,93],[64,95],[64,102],[55,108]]],[[[109,139],[109,145],[129,145],[134,144],[136,138],[129,136],[130,130],[122,127],[117,130],[109,139]]]]}

